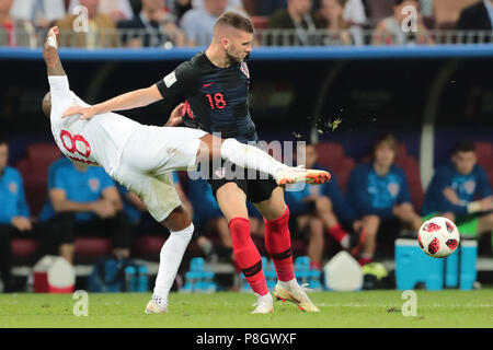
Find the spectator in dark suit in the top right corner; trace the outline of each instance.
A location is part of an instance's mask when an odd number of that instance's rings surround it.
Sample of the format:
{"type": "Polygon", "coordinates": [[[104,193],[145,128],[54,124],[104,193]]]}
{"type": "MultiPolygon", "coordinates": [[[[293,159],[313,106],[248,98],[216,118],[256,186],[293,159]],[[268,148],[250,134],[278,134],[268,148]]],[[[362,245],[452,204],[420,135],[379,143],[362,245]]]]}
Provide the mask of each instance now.
{"type": "MultiPolygon", "coordinates": [[[[463,9],[457,21],[458,31],[488,31],[493,28],[493,1],[483,0],[463,9]]],[[[490,43],[491,38],[486,38],[490,43]]],[[[479,43],[479,36],[473,37],[474,43],[479,43]]]]}

